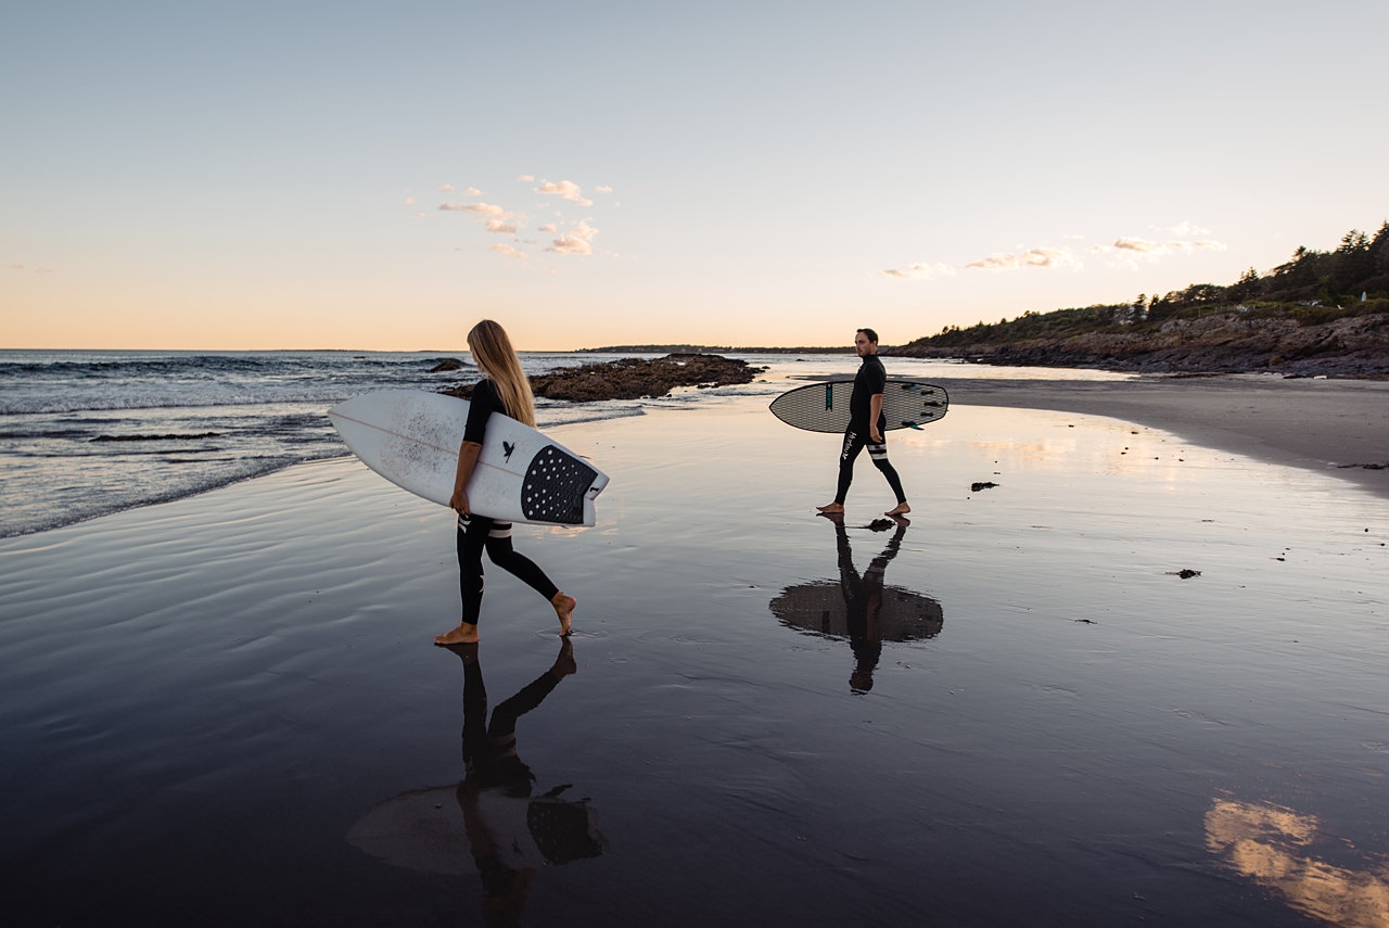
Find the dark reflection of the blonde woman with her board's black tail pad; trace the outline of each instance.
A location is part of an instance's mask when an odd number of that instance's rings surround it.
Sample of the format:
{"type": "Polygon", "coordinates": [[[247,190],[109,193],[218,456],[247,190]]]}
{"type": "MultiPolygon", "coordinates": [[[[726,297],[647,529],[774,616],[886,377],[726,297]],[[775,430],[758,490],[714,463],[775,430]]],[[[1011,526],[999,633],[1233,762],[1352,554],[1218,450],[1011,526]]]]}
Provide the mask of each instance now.
{"type": "Polygon", "coordinates": [[[463,658],[467,779],[458,784],[457,797],[482,875],[482,920],[488,925],[518,925],[540,865],[597,857],[604,849],[592,827],[596,813],[583,803],[558,799],[568,785],[532,799],[535,774],[517,756],[517,720],[578,670],[574,643],[565,638],[554,665],[493,709],[490,722],[478,646],[454,645],[450,650],[463,658]]]}

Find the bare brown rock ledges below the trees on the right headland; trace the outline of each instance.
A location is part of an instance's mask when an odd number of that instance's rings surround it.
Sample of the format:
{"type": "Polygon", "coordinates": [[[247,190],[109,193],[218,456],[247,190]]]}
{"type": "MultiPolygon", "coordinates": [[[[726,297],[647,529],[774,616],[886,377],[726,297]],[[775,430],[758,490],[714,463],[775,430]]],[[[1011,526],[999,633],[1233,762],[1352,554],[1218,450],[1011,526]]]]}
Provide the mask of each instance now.
{"type": "Polygon", "coordinates": [[[1322,325],[1236,313],[1172,320],[1156,332],[1088,332],[958,347],[883,347],[883,356],[958,358],[1017,367],[1089,367],[1108,371],[1389,378],[1389,314],[1322,325]]]}

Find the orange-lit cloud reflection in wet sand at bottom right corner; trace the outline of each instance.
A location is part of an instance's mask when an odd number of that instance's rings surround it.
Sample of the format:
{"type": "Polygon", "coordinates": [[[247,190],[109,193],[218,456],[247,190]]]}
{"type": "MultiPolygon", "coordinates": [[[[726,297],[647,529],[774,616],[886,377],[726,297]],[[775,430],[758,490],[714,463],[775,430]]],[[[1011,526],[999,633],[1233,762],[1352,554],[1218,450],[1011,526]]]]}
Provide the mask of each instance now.
{"type": "Polygon", "coordinates": [[[1206,846],[1297,911],[1347,928],[1389,927],[1389,872],[1333,867],[1304,849],[1317,818],[1263,803],[1217,799],[1206,813],[1206,846]]]}

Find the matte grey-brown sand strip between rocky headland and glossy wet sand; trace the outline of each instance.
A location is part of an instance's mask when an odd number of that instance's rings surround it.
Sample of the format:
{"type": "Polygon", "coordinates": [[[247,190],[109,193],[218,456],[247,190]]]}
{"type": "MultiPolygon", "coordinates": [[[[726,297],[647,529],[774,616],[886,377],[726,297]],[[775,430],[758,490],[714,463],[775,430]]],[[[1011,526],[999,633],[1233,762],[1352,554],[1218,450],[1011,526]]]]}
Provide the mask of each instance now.
{"type": "Polygon", "coordinates": [[[954,403],[1108,415],[1239,454],[1336,477],[1389,496],[1389,383],[1265,375],[1129,381],[933,378],[954,403]],[[1343,467],[1351,465],[1351,467],[1343,467]]]}

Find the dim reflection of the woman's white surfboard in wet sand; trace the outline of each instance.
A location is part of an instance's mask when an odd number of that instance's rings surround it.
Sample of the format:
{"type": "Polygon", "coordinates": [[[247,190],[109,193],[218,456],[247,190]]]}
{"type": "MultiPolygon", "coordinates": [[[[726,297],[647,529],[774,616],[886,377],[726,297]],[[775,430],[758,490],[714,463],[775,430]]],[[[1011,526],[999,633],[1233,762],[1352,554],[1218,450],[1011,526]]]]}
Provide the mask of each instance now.
{"type": "MultiPolygon", "coordinates": [[[[478,817],[513,868],[567,864],[608,853],[597,829],[599,813],[583,803],[550,796],[510,796],[485,789],[478,817]]],[[[458,788],[415,789],[388,799],[363,815],[347,843],[407,870],[463,875],[475,872],[458,788]]]]}

